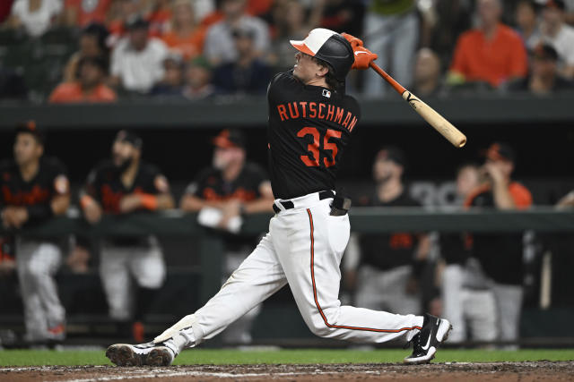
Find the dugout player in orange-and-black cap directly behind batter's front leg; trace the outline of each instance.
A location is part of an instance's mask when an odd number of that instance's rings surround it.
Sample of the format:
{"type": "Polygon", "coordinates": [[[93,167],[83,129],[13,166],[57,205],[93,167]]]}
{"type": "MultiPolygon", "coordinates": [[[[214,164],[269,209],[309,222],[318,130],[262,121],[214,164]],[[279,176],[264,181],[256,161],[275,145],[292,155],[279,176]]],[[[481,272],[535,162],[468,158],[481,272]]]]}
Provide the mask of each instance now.
{"type": "MultiPolygon", "coordinates": [[[[223,282],[246,259],[260,239],[240,233],[242,216],[273,212],[273,192],[265,170],[246,161],[246,139],[239,130],[223,130],[213,139],[213,164],[196,175],[181,198],[180,208],[199,212],[201,225],[218,229],[225,238],[223,282]]],[[[222,333],[226,344],[251,343],[257,305],[222,333]]]]}

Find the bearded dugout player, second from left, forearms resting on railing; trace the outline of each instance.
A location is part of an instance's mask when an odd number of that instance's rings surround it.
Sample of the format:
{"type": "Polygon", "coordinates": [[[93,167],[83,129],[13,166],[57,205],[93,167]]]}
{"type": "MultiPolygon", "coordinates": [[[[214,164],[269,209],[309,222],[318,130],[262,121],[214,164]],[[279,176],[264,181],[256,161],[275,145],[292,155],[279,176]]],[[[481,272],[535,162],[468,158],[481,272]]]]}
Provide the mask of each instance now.
{"type": "MultiPolygon", "coordinates": [[[[148,213],[174,207],[170,185],[158,167],[142,160],[142,139],[120,131],[111,158],[88,175],[81,195],[83,215],[95,225],[103,214],[148,213]]],[[[154,235],[109,235],[99,242],[100,277],[118,333],[126,327],[136,341],[144,340],[144,315],[163,284],[166,267],[154,235]],[[135,285],[132,285],[132,281],[135,285]]]]}

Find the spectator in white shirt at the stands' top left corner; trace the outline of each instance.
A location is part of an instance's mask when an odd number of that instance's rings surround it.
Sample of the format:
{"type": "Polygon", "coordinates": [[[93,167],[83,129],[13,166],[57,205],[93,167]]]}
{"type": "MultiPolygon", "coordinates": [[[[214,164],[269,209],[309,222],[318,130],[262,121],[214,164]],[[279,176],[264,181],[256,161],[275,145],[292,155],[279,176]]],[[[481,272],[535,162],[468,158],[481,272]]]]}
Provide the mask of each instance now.
{"type": "Polygon", "coordinates": [[[55,0],[16,0],[8,25],[36,38],[60,22],[62,11],[62,3],[55,0]]]}

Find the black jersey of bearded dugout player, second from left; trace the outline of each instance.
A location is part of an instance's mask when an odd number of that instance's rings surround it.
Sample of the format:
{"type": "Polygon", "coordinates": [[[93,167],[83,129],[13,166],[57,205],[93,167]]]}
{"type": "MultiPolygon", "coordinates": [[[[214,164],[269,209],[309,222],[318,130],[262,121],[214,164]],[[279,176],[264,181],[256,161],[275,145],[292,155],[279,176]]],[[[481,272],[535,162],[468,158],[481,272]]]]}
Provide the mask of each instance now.
{"type": "Polygon", "coordinates": [[[167,179],[156,166],[140,162],[134,183],[126,187],[111,160],[102,162],[88,175],[85,191],[100,202],[104,212],[119,213],[119,201],[131,193],[161,194],[170,191],[167,179]]]}

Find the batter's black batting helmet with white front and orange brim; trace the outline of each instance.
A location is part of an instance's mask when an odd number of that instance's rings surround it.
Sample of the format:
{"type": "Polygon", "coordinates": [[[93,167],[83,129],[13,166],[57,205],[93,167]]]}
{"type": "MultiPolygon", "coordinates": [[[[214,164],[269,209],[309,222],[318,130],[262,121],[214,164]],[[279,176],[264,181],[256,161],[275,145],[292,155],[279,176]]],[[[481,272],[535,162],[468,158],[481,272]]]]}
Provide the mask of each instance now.
{"type": "Polygon", "coordinates": [[[304,40],[290,42],[300,52],[330,64],[338,81],[344,81],[355,61],[349,41],[333,30],[316,28],[304,40]]]}

